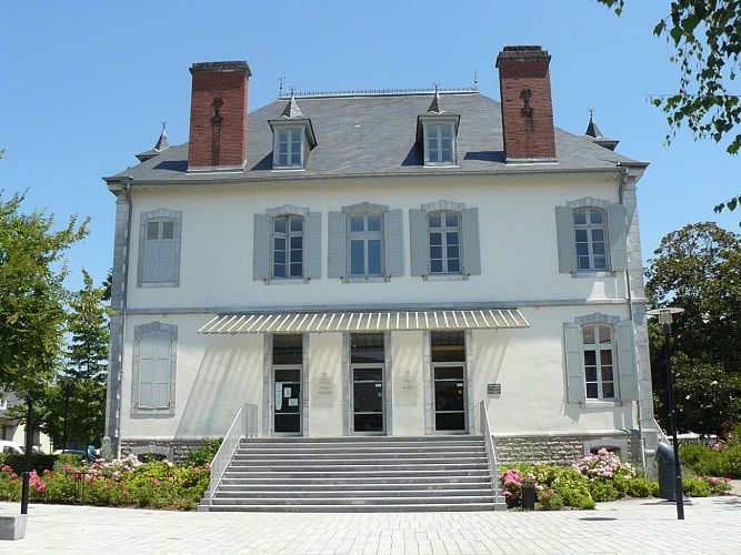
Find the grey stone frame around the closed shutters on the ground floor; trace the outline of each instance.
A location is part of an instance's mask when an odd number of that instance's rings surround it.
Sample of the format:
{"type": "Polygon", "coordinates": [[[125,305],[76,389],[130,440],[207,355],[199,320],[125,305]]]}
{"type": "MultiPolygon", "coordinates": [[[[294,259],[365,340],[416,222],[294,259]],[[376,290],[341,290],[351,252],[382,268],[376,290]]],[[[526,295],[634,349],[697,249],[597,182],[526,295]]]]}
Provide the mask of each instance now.
{"type": "MultiPolygon", "coordinates": [[[[158,340],[156,340],[158,341],[158,340]]],[[[152,375],[154,369],[152,369],[152,375]]],[[[176,384],[178,374],[178,326],[172,324],[164,324],[162,322],[152,322],[143,325],[134,326],[134,345],[131,365],[131,414],[132,415],[152,415],[152,414],[176,414],[176,384]],[[141,405],[141,387],[142,387],[142,341],[143,337],[154,334],[156,337],[169,336],[170,345],[168,347],[168,403],[167,405],[142,406],[141,405]]],[[[154,382],[152,382],[152,390],[154,382]]],[[[152,395],[154,397],[154,395],[152,395]]]]}

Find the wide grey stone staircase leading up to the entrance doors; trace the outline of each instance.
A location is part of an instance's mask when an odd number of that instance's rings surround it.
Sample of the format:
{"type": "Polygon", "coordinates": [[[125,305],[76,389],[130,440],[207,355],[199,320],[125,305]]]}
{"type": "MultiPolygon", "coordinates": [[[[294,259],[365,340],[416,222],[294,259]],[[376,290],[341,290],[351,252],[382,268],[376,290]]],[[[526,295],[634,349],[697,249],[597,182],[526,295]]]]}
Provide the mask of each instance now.
{"type": "Polygon", "coordinates": [[[503,509],[481,436],[242,440],[199,511],[503,509]]]}

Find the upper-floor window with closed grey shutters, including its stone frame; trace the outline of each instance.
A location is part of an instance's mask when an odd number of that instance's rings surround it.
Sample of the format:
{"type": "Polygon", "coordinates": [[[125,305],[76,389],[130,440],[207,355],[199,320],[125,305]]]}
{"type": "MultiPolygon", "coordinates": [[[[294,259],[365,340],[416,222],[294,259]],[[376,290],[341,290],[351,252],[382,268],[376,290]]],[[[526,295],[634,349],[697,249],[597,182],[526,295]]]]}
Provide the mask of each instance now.
{"type": "MultiPolygon", "coordinates": [[[[168,240],[170,241],[170,240],[168,240]]],[[[139,256],[138,256],[138,270],[137,270],[137,286],[139,287],[179,287],[180,286],[180,252],[182,245],[182,212],[177,210],[168,209],[157,209],[150,212],[142,212],[140,214],[139,223],[139,256]],[[167,245],[171,250],[171,260],[164,259],[162,252],[166,249],[166,245],[162,244],[166,241],[161,234],[158,236],[157,250],[159,252],[158,259],[148,259],[148,253],[151,252],[151,242],[154,240],[148,239],[148,232],[150,223],[159,223],[160,231],[163,229],[164,223],[172,223],[172,244],[167,245]],[[162,268],[163,264],[170,262],[172,264],[172,271],[170,275],[162,275],[166,273],[166,270],[162,268]],[[152,269],[152,265],[157,264],[157,268],[152,269]],[[157,279],[150,280],[148,275],[157,274],[157,279]],[[170,279],[167,279],[170,278],[170,279]]]]}

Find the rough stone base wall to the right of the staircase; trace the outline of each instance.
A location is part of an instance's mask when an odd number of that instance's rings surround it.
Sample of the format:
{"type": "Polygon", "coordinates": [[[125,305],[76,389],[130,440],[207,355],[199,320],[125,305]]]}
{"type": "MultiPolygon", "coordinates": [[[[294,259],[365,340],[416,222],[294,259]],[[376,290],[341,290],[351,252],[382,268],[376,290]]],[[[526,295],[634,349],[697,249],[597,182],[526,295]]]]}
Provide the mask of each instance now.
{"type": "Polygon", "coordinates": [[[545,463],[568,465],[591,451],[607,447],[619,451],[620,457],[641,464],[641,442],[638,432],[614,435],[548,435],[494,437],[499,464],[545,463]]]}

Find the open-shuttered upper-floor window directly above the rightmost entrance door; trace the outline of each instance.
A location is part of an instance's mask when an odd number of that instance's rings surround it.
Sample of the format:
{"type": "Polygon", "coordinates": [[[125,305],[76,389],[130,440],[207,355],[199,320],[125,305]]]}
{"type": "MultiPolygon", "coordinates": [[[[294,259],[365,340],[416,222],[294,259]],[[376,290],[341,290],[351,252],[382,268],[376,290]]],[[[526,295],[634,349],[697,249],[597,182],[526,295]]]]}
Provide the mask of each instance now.
{"type": "Polygon", "coordinates": [[[439,201],[409,211],[411,274],[429,276],[481,273],[479,211],[439,201]]]}

